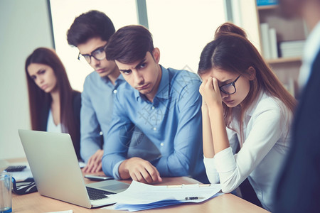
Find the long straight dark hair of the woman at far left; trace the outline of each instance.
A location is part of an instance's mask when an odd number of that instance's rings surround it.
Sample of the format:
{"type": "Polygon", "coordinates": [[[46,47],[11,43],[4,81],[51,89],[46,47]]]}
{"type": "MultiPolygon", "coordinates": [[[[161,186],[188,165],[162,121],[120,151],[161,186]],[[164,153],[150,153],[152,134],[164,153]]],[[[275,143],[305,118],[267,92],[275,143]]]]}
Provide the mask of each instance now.
{"type": "Polygon", "coordinates": [[[58,55],[55,54],[54,50],[48,48],[37,48],[26,59],[25,70],[28,83],[32,129],[43,130],[43,127],[41,126],[41,121],[43,120],[41,111],[50,107],[50,103],[52,102],[50,94],[39,88],[28,74],[28,66],[32,63],[48,65],[53,69],[55,77],[57,78],[57,86],[60,94],[60,122],[62,131],[64,133],[70,133],[75,149],[78,148],[78,145],[75,143],[80,140],[80,134],[75,124],[73,114],[73,89],[70,86],[63,63],[58,58],[58,55]]]}

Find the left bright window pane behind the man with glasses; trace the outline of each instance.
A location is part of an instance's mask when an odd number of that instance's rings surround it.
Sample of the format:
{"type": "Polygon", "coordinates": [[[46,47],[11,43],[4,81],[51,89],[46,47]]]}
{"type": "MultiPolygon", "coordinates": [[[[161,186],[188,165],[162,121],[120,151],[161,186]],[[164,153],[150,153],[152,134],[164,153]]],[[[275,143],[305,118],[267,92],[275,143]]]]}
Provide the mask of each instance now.
{"type": "Polygon", "coordinates": [[[137,24],[137,9],[134,0],[51,0],[55,50],[67,70],[71,87],[82,91],[85,77],[92,67],[78,60],[78,48],[67,41],[67,31],[81,13],[90,10],[102,11],[109,16],[116,30],[129,24],[137,24]]]}

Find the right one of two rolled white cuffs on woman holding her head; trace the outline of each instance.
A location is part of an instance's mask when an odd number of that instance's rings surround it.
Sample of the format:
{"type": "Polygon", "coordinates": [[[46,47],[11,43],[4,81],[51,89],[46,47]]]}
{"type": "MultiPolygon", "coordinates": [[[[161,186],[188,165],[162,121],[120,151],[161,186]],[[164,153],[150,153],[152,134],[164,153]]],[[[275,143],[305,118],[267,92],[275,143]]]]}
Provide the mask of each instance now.
{"type": "Polygon", "coordinates": [[[236,168],[235,157],[231,147],[216,153],[213,159],[215,160],[215,168],[217,168],[218,173],[227,173],[236,168]]]}

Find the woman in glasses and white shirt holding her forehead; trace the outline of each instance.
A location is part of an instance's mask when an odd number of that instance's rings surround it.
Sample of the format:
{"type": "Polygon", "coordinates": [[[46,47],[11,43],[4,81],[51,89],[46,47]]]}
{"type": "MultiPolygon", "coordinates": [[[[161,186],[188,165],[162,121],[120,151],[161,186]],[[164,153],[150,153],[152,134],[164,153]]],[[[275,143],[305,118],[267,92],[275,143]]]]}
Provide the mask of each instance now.
{"type": "Polygon", "coordinates": [[[220,26],[203,49],[198,74],[208,179],[232,192],[248,178],[262,207],[272,211],[296,100],[232,23],[220,26]]]}

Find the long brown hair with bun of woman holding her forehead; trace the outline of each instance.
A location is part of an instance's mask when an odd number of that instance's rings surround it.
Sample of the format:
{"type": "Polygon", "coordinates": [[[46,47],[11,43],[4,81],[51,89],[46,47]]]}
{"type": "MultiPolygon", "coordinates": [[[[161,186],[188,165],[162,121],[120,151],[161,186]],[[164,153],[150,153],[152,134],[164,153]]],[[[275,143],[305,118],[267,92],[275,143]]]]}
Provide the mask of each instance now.
{"type": "MultiPolygon", "coordinates": [[[[215,31],[215,40],[206,45],[201,53],[198,74],[210,72],[212,68],[236,72],[248,76],[250,67],[255,69],[255,79],[250,80],[250,91],[240,104],[240,135],[242,139],[242,120],[245,111],[257,100],[261,91],[277,97],[284,105],[294,112],[296,100],[279,82],[274,72],[261,57],[254,45],[247,40],[245,31],[233,23],[224,23],[215,31]]],[[[233,120],[233,109],[223,103],[225,124],[230,128],[233,120]]],[[[282,114],[285,109],[282,109],[282,114]]]]}

